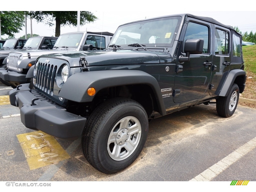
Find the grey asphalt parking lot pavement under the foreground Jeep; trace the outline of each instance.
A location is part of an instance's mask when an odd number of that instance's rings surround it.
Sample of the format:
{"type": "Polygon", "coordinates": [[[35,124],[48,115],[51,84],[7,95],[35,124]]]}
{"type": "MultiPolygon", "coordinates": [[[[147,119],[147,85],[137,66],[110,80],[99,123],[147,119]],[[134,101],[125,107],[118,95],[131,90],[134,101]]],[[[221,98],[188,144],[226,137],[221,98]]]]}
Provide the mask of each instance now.
{"type": "Polygon", "coordinates": [[[0,83],[0,181],[256,181],[254,109],[239,105],[221,118],[215,104],[201,104],[154,119],[137,160],[106,175],[86,161],[80,139],[27,129],[10,90],[0,83]]]}

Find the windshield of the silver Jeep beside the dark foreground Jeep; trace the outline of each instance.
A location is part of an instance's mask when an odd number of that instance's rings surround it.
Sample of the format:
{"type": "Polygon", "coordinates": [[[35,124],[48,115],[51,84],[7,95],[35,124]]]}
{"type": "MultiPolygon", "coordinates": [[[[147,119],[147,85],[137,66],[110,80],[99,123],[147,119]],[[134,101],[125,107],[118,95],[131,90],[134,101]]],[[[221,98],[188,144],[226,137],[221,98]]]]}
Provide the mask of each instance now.
{"type": "Polygon", "coordinates": [[[77,49],[82,37],[83,37],[83,33],[71,33],[71,34],[60,35],[54,45],[54,49],[55,48],[56,49],[61,49],[61,48],[77,49]]]}

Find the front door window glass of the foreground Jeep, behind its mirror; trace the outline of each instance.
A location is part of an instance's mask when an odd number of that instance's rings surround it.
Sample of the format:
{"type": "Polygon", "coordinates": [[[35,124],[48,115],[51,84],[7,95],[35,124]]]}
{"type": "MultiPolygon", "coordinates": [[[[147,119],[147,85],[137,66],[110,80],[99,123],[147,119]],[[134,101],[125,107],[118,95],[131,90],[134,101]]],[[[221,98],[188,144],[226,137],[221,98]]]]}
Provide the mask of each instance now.
{"type": "Polygon", "coordinates": [[[203,53],[209,52],[209,27],[206,25],[189,22],[186,29],[183,45],[187,39],[203,39],[203,53]]]}

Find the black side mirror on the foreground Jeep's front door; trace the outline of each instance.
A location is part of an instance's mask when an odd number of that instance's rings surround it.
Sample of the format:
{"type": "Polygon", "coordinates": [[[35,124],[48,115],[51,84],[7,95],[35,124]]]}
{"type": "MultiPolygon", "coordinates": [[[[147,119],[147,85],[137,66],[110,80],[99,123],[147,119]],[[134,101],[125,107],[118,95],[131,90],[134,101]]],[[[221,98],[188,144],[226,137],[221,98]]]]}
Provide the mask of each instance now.
{"type": "Polygon", "coordinates": [[[203,39],[187,39],[184,44],[184,52],[186,57],[179,57],[179,62],[189,61],[190,54],[201,54],[203,52],[203,39]]]}

